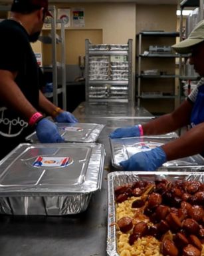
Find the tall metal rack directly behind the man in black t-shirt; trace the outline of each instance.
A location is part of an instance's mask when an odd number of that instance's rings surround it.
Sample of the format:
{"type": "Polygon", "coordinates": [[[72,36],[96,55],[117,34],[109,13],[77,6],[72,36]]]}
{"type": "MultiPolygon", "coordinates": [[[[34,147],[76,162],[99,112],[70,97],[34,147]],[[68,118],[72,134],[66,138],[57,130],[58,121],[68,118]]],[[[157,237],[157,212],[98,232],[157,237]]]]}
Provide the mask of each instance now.
{"type": "Polygon", "coordinates": [[[45,93],[48,98],[53,97],[53,103],[58,105],[58,94],[62,93],[62,107],[66,110],[66,47],[65,47],[65,30],[62,19],[56,19],[56,7],[49,6],[52,13],[51,19],[51,37],[41,36],[43,43],[52,44],[52,64],[49,67],[42,67],[43,70],[52,72],[53,93],[45,93]],[[56,33],[56,25],[60,24],[60,35],[56,33]],[[56,45],[60,45],[60,62],[57,61],[56,45]],[[61,83],[58,84],[58,72],[61,71],[61,83]]]}

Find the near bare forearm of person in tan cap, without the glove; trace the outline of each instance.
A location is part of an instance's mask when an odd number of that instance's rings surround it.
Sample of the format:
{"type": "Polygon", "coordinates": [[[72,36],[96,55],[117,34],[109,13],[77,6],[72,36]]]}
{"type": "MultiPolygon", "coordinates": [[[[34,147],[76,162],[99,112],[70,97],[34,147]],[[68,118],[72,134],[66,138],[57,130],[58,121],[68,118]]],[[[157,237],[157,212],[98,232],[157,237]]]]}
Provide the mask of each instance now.
{"type": "Polygon", "coordinates": [[[178,139],[161,146],[167,156],[167,161],[188,157],[204,152],[204,123],[196,125],[178,139]]]}

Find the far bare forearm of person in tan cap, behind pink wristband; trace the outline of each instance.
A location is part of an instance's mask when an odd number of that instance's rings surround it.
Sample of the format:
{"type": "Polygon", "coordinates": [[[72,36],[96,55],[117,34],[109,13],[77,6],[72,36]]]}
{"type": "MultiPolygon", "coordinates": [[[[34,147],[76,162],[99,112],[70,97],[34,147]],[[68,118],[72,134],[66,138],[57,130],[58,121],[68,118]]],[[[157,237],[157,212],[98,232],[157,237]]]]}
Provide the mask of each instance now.
{"type": "Polygon", "coordinates": [[[142,125],[144,135],[159,135],[175,131],[185,125],[189,125],[193,104],[185,100],[172,113],[161,115],[142,125]]]}

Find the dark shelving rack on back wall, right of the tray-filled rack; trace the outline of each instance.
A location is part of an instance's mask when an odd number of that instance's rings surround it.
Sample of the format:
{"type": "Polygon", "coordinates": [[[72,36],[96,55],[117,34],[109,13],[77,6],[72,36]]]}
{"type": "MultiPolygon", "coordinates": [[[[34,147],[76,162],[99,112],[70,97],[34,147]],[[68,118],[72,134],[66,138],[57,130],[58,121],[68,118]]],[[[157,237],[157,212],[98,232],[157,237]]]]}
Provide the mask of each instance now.
{"type": "Polygon", "coordinates": [[[156,53],[156,54],[150,54],[148,53],[143,54],[142,53],[142,39],[144,39],[144,37],[146,39],[150,39],[150,38],[159,38],[159,37],[179,37],[179,32],[163,32],[163,31],[141,31],[140,33],[138,33],[138,35],[136,35],[136,39],[137,39],[137,58],[138,58],[138,65],[137,65],[137,87],[138,87],[138,92],[137,92],[137,99],[138,99],[138,107],[140,107],[141,105],[141,99],[175,99],[176,97],[178,97],[177,95],[175,95],[175,93],[173,95],[162,95],[162,94],[153,94],[152,95],[142,95],[142,80],[143,79],[149,79],[151,81],[151,79],[159,79],[159,78],[163,78],[163,79],[175,79],[178,78],[179,75],[143,75],[142,74],[142,60],[143,59],[147,59],[147,58],[162,58],[162,59],[175,59],[176,57],[178,57],[177,54],[173,54],[173,53],[156,53]]]}

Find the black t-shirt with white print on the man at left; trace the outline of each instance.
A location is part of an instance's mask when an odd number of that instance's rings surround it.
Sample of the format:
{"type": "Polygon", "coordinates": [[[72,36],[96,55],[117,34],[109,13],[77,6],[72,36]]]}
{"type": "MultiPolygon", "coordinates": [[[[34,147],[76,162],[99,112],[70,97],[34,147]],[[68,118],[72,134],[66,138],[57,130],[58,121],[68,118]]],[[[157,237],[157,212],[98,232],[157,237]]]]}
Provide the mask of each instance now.
{"type": "MultiPolygon", "coordinates": [[[[38,109],[39,89],[43,81],[27,31],[17,21],[7,19],[0,23],[0,35],[0,69],[17,71],[15,82],[38,109]]],[[[27,121],[15,109],[7,108],[0,99],[0,158],[24,142],[31,132],[27,121]]]]}

